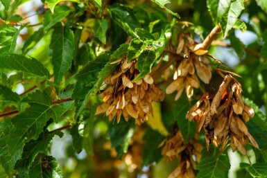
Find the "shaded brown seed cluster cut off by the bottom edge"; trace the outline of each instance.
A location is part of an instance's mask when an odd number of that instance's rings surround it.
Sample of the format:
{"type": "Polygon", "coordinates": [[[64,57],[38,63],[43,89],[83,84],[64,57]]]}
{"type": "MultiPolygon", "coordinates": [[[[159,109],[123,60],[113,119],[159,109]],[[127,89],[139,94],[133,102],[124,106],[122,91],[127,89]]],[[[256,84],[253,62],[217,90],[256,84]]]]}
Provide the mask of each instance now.
{"type": "Polygon", "coordinates": [[[175,158],[179,161],[177,168],[171,172],[169,178],[195,178],[193,169],[196,169],[196,163],[200,161],[201,150],[203,150],[203,146],[196,139],[184,143],[180,131],[173,132],[162,149],[162,155],[167,161],[173,161],[175,158]]]}

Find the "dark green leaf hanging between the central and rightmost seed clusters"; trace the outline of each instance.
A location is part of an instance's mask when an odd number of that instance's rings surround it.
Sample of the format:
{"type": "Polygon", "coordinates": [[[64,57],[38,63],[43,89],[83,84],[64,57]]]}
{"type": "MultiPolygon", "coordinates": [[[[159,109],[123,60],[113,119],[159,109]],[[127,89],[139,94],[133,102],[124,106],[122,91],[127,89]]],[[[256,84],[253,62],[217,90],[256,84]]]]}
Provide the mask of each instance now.
{"type": "Polygon", "coordinates": [[[184,143],[188,143],[193,136],[196,134],[196,123],[190,122],[185,118],[187,112],[195,101],[188,101],[185,96],[182,96],[178,102],[175,102],[174,106],[174,118],[178,122],[178,126],[182,137],[184,138],[184,143]]]}

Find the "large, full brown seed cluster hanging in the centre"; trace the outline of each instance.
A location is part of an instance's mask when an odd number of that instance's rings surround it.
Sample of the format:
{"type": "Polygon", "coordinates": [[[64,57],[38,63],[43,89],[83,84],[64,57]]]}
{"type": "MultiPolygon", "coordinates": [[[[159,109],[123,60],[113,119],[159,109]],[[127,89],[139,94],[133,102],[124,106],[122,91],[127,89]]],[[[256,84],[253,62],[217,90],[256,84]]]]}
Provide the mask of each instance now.
{"type": "Polygon", "coordinates": [[[139,74],[135,69],[137,60],[128,62],[126,57],[117,60],[119,67],[105,80],[107,88],[100,94],[103,103],[96,109],[96,115],[106,114],[110,121],[121,115],[126,121],[130,117],[135,118],[135,123],[141,125],[148,120],[151,113],[151,103],[164,100],[164,93],[153,84],[153,78],[148,74],[145,78],[132,82],[139,74]]]}

